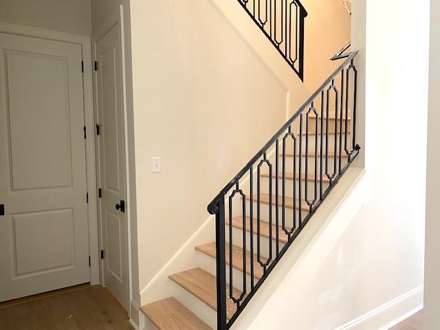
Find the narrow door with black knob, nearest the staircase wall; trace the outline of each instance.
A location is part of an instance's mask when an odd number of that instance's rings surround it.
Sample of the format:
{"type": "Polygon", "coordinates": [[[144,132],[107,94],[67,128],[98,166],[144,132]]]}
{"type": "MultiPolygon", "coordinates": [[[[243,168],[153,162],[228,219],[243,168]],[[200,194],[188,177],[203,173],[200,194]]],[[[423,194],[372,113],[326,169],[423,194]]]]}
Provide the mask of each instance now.
{"type": "Polygon", "coordinates": [[[100,225],[104,285],[129,309],[125,128],[120,25],[95,44],[96,113],[99,125],[100,225]]]}

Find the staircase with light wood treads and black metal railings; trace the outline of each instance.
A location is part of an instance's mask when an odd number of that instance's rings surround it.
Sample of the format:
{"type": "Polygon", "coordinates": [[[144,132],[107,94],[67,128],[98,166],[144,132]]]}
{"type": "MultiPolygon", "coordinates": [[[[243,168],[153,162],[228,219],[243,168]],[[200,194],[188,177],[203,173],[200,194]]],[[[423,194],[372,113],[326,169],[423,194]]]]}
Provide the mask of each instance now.
{"type": "MultiPolygon", "coordinates": [[[[254,9],[259,2],[238,1],[279,47],[280,35],[271,28],[276,24],[267,19],[261,25],[261,9],[254,9]]],[[[299,8],[299,21],[307,16],[299,1],[279,3],[285,3],[281,12],[287,26],[292,8],[299,8]]],[[[357,52],[344,54],[348,48],[332,58],[342,61],[340,67],[209,204],[216,217],[215,241],[195,247],[199,267],[169,276],[170,285],[197,303],[169,297],[144,305],[141,310],[157,329],[230,329],[358,155],[357,52]],[[195,304],[204,312],[190,310],[195,304]]],[[[300,76],[301,69],[295,71],[300,76]]]]}

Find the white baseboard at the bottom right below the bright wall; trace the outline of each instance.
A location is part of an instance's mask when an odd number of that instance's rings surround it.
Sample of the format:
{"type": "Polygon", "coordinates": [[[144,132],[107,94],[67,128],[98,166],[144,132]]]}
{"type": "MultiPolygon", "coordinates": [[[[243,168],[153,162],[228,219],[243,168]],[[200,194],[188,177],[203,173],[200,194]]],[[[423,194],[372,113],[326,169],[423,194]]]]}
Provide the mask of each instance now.
{"type": "Polygon", "coordinates": [[[388,330],[423,308],[423,286],[369,311],[338,330],[388,330]]]}

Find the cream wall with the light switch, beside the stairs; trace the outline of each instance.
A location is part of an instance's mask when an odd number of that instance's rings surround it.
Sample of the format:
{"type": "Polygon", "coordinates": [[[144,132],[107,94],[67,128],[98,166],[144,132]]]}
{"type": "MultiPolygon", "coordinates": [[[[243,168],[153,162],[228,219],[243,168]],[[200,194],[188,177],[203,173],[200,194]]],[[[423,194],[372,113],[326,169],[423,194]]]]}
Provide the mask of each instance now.
{"type": "Polygon", "coordinates": [[[289,93],[210,0],[131,1],[131,32],[142,288],[285,122],[289,93]]]}

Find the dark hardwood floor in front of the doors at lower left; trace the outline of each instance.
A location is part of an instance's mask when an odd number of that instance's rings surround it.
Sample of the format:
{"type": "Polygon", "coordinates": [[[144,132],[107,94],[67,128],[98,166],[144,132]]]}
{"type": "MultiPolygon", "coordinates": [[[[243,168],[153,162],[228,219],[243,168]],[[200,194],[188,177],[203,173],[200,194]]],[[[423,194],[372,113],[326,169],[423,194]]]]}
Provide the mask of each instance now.
{"type": "Polygon", "coordinates": [[[1,330],[133,330],[126,311],[100,285],[0,303],[1,330]]]}

